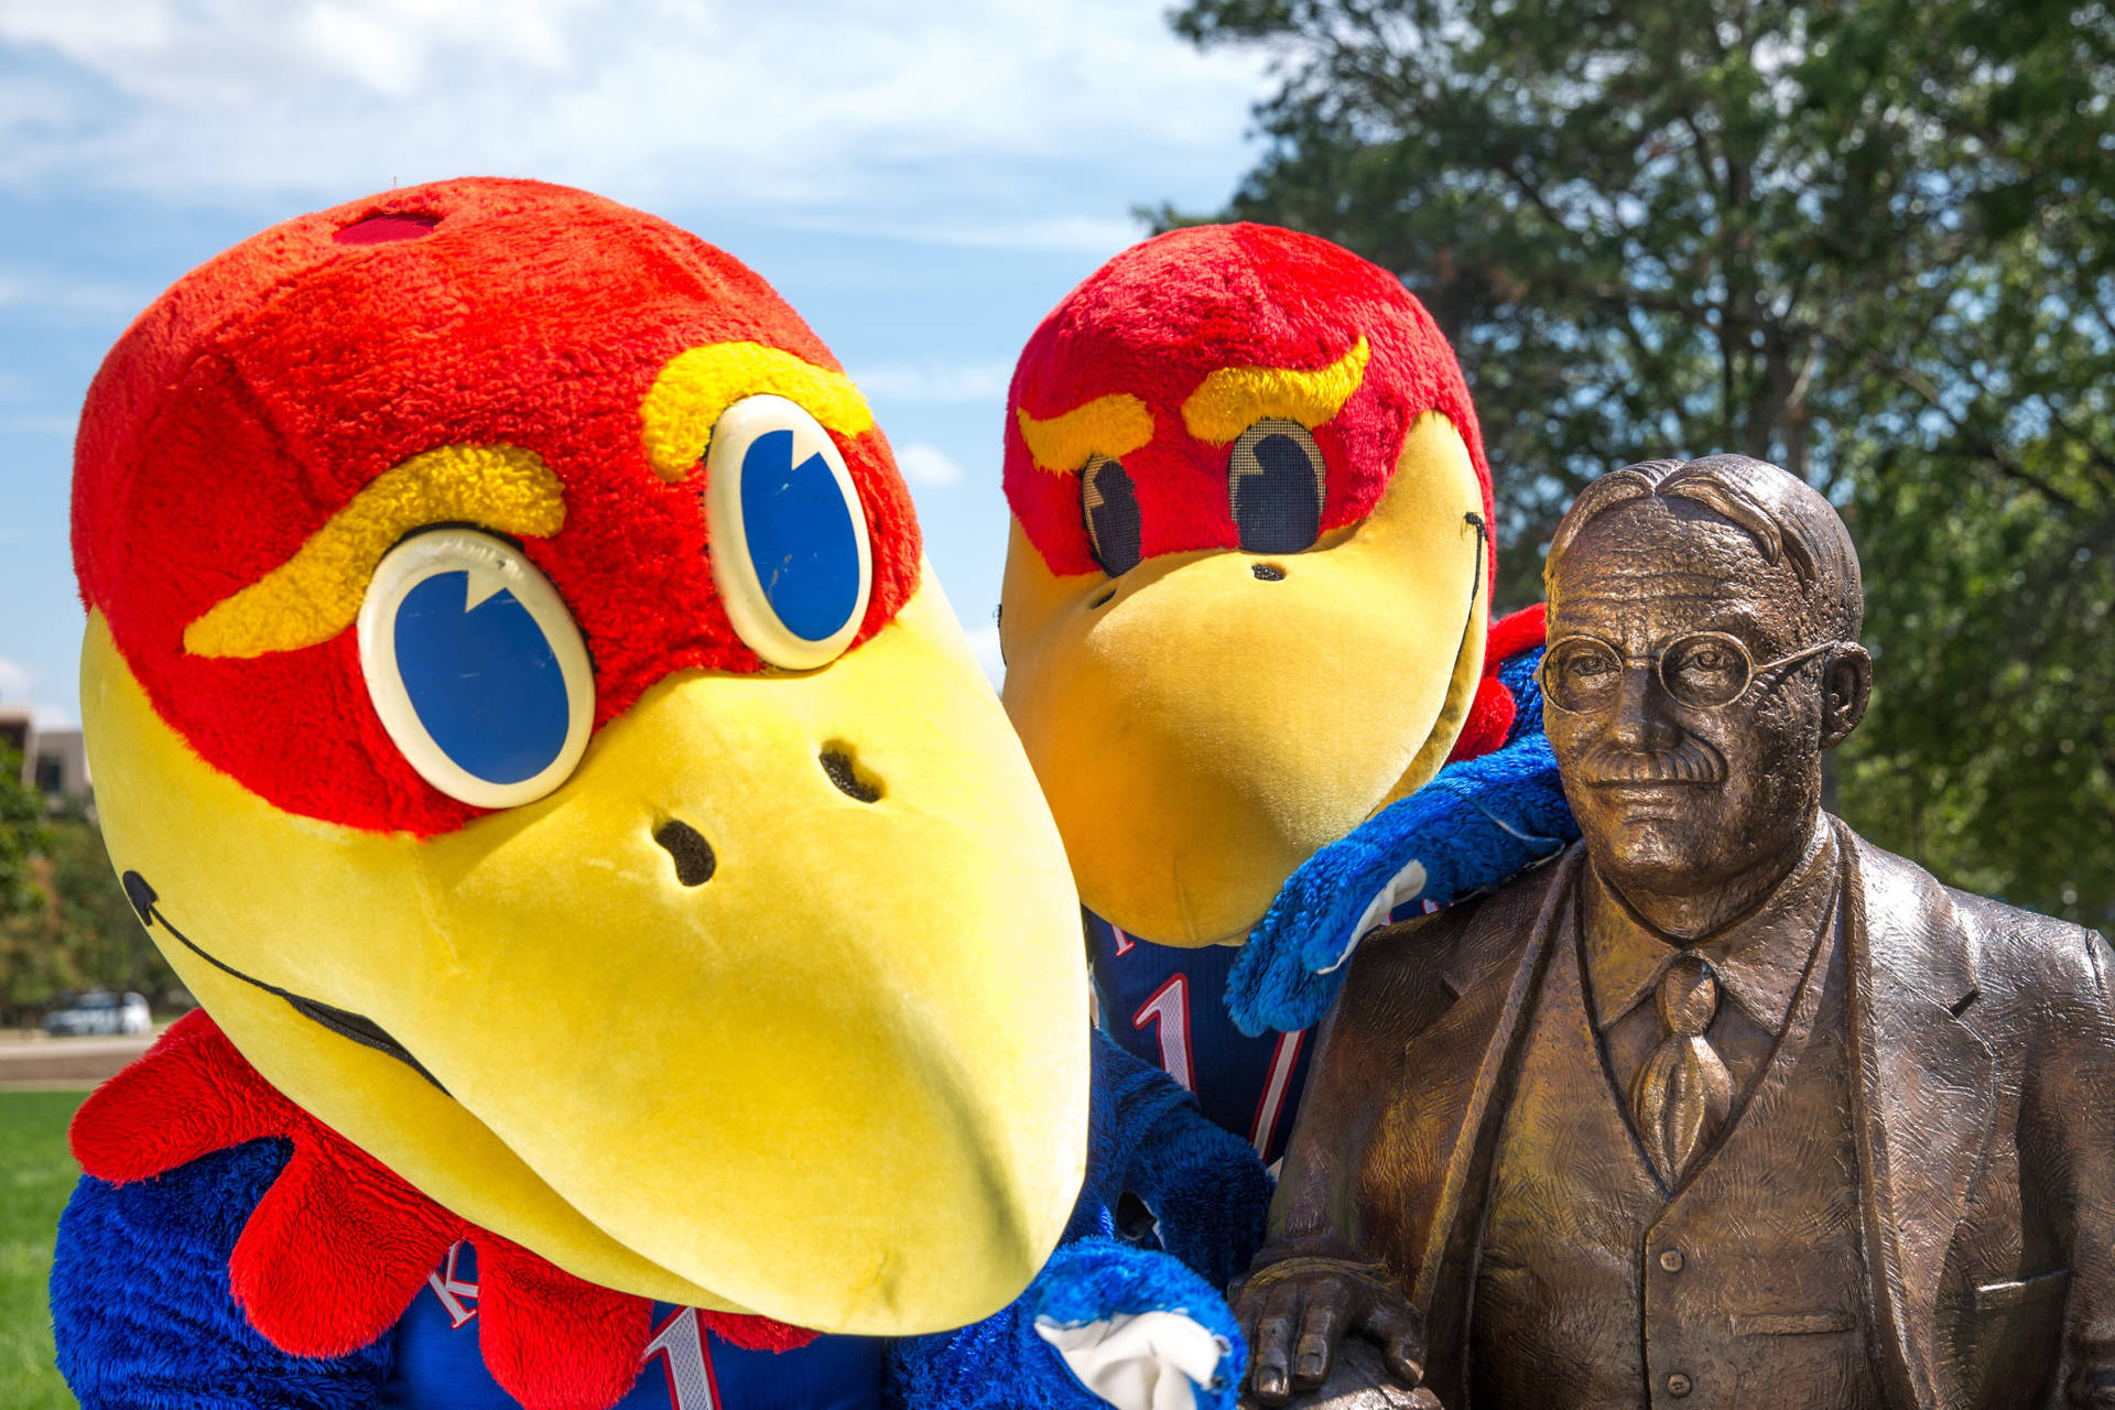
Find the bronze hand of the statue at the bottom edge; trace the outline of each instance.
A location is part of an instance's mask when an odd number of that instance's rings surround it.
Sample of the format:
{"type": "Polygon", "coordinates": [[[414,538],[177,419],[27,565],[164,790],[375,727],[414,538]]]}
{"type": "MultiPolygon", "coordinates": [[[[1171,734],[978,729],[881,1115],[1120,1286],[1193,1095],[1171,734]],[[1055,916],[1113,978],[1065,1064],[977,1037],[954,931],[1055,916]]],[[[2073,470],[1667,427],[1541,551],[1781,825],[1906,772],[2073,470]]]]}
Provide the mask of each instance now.
{"type": "Polygon", "coordinates": [[[1292,1391],[1328,1378],[1345,1334],[1381,1349],[1404,1387],[1423,1380],[1426,1325],[1379,1264],[1337,1258],[1286,1258],[1233,1290],[1233,1315],[1248,1336],[1248,1397],[1282,1406],[1292,1391]]]}

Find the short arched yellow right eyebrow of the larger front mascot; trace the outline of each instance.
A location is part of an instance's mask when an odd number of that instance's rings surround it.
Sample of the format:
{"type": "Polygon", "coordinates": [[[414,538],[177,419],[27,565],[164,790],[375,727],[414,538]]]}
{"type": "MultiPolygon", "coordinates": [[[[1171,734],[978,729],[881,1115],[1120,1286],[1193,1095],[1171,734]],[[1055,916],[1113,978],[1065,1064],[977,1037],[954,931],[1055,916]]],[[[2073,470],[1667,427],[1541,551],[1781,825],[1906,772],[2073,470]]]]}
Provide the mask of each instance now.
{"type": "Polygon", "coordinates": [[[838,435],[873,429],[873,410],[844,372],[761,342],[713,342],[670,357],[647,391],[641,416],[654,474],[668,484],[687,476],[704,459],[719,414],[764,393],[799,404],[838,435]]]}

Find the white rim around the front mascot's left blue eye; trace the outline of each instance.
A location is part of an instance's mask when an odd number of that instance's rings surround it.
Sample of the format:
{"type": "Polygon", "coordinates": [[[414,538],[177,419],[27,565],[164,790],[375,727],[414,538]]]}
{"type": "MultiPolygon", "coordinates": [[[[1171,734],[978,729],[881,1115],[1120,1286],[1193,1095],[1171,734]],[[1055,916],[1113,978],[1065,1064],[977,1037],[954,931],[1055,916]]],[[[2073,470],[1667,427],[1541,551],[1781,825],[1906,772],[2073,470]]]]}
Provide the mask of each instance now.
{"type": "Polygon", "coordinates": [[[474,528],[431,528],[404,539],[374,567],[368,594],[360,602],[357,632],[360,674],[368,681],[368,700],[374,704],[389,742],[419,772],[419,778],[448,797],[472,808],[520,808],[571,778],[582,755],[588,753],[588,736],[594,729],[594,664],[588,660],[588,645],[582,641],[565,598],[514,545],[474,528]],[[514,600],[544,632],[565,681],[567,721],[558,757],[537,774],[512,784],[478,778],[434,742],[396,664],[398,605],[425,579],[465,571],[472,575],[472,605],[491,592],[514,594],[514,600]],[[486,575],[484,583],[478,581],[480,575],[486,575]],[[480,586],[489,590],[480,592],[480,586]]]}

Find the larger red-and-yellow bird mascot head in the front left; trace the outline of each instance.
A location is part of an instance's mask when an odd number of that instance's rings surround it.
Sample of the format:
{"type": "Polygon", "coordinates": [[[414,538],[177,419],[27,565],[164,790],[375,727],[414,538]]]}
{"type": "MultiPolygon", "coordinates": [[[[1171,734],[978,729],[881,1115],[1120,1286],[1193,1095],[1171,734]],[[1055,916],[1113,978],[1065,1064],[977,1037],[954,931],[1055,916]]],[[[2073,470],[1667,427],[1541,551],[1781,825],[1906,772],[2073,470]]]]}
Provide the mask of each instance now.
{"type": "Polygon", "coordinates": [[[533,182],[290,220],[110,353],[74,548],[112,858],[281,1093],[677,1304],[899,1334],[1041,1266],[1060,843],[749,268],[533,182]]]}

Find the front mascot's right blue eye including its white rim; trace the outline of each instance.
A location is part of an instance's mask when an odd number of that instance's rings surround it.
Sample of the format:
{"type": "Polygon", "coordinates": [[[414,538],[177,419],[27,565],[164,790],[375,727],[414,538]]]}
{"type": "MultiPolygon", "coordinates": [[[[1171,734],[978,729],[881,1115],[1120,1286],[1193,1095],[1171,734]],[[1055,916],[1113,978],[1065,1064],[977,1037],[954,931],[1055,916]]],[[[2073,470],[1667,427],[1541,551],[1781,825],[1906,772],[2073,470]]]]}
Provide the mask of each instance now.
{"type": "Polygon", "coordinates": [[[808,670],[850,645],[867,615],[867,514],[844,457],[785,397],[736,402],[704,457],[713,581],[757,655],[808,670]]]}

